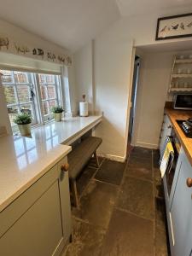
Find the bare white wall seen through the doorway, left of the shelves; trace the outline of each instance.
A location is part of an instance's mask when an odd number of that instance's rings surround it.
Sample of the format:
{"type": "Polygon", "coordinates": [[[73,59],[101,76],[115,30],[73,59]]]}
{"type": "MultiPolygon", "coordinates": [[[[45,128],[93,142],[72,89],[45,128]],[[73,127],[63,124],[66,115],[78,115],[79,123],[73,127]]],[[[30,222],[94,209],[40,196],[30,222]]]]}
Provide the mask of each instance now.
{"type": "Polygon", "coordinates": [[[137,94],[135,143],[158,148],[174,53],[145,53],[141,57],[137,94]]]}

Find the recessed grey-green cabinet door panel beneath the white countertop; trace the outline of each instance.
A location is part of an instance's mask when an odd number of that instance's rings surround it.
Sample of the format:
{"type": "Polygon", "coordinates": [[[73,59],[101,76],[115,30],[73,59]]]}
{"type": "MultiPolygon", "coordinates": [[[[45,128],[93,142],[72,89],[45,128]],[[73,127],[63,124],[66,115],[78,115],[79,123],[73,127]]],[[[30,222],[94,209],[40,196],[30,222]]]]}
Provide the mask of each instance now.
{"type": "Polygon", "coordinates": [[[0,255],[59,255],[64,247],[58,180],[1,237],[0,255]]]}

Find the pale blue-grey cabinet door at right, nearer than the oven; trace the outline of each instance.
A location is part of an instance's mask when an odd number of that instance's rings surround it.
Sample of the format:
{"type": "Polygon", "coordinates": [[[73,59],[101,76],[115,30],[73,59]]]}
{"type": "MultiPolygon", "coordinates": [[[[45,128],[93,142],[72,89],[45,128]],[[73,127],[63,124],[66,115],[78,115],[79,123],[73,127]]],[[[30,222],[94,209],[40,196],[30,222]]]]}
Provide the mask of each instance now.
{"type": "Polygon", "coordinates": [[[192,166],[182,151],[181,167],[172,201],[172,251],[174,256],[189,256],[192,249],[192,188],[186,184],[192,177],[192,166]]]}

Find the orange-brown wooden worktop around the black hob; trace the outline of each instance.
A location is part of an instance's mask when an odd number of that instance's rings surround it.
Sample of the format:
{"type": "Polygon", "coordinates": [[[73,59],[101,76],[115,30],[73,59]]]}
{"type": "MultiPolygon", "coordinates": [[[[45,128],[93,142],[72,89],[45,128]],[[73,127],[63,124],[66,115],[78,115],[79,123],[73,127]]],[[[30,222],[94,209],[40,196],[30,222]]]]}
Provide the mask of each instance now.
{"type": "Polygon", "coordinates": [[[192,111],[175,110],[172,108],[165,108],[165,113],[170,118],[170,120],[172,122],[172,126],[173,126],[174,130],[176,131],[177,137],[183,146],[183,149],[189,159],[190,164],[192,165],[192,138],[186,137],[176,122],[176,119],[184,120],[184,119],[189,119],[189,117],[192,117],[192,111]]]}

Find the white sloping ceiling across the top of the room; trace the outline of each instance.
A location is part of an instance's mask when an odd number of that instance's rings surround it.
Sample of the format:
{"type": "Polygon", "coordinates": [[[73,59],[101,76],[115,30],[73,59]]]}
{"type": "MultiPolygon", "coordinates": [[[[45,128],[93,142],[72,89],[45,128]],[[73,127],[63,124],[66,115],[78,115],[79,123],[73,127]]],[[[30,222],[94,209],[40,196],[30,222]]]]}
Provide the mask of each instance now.
{"type": "Polygon", "coordinates": [[[179,7],[191,0],[6,0],[0,18],[74,52],[120,16],[179,7]]]}

